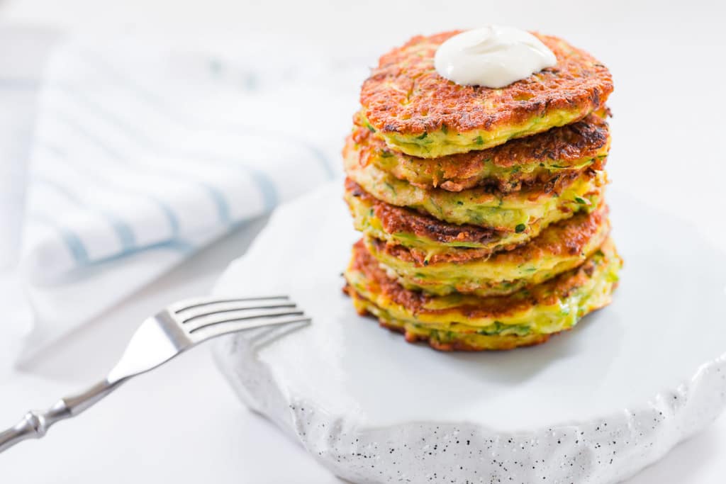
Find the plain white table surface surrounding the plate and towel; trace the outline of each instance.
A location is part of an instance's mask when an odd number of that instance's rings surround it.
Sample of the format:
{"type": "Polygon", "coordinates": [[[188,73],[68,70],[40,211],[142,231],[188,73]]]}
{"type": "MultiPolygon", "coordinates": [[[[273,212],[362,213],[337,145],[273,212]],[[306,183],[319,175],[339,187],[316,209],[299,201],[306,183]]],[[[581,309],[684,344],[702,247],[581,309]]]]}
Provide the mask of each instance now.
{"type": "MultiPolygon", "coordinates": [[[[608,164],[613,183],[688,218],[700,236],[726,249],[726,158],[718,146],[726,131],[721,2],[689,1],[678,9],[660,1],[544,3],[467,1],[457,3],[457,10],[454,2],[441,0],[5,0],[0,1],[0,22],[111,34],[155,30],[216,49],[232,49],[241,33],[249,38],[265,30],[303,39],[322,53],[358,55],[381,52],[413,33],[459,25],[503,23],[555,33],[594,52],[615,76],[608,164]]],[[[341,127],[341,139],[347,131],[348,126],[341,127]]],[[[0,427],[15,423],[29,406],[46,406],[102,376],[144,316],[171,300],[207,292],[262,224],[253,223],[196,255],[0,377],[0,427]]],[[[726,417],[721,417],[629,483],[724,482],[725,454],[726,417]]],[[[209,348],[197,348],[129,382],[73,422],[54,427],[43,441],[0,456],[0,482],[340,480],[243,408],[216,372],[209,348]]]]}

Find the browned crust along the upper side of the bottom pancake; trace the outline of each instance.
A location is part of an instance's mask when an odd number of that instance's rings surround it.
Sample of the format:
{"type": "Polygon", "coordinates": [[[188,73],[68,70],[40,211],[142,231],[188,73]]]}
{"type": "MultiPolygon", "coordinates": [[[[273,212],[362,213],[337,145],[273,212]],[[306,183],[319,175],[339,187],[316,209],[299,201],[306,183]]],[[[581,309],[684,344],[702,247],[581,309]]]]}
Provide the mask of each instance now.
{"type": "MultiPolygon", "coordinates": [[[[595,263],[588,259],[582,266],[560,274],[545,284],[538,284],[529,290],[511,295],[476,298],[476,303],[463,303],[457,306],[456,311],[468,319],[498,319],[537,305],[554,305],[567,298],[571,291],[585,284],[594,269],[595,263]]],[[[375,292],[394,304],[403,306],[414,315],[445,315],[450,311],[449,308],[428,307],[429,303],[437,298],[436,296],[407,290],[396,279],[388,276],[380,267],[380,263],[368,252],[362,239],[353,246],[351,270],[361,272],[369,284],[375,286],[375,292]]]]}

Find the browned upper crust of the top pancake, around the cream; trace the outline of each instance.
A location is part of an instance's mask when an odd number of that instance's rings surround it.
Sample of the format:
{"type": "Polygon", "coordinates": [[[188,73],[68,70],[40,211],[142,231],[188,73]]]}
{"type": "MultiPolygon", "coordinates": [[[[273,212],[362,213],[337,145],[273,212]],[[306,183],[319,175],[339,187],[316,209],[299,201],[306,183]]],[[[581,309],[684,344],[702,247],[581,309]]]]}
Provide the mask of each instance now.
{"type": "Polygon", "coordinates": [[[459,86],[433,67],[436,49],[457,33],[416,36],[380,57],[360,97],[372,126],[383,133],[414,135],[441,128],[493,131],[560,110],[579,110],[584,117],[613,91],[610,72],[594,57],[538,33],[534,35],[557,57],[555,67],[502,89],[459,86]]]}

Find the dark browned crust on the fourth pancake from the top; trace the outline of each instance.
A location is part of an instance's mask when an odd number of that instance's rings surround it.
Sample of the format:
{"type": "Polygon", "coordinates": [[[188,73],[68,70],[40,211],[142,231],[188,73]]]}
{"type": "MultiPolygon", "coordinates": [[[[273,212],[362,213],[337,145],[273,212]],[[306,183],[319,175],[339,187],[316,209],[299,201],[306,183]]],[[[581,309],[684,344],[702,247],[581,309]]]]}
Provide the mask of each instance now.
{"type": "Polygon", "coordinates": [[[499,239],[502,234],[494,229],[475,225],[454,225],[423,215],[409,208],[396,207],[372,197],[351,179],[346,179],[346,191],[354,197],[361,197],[373,207],[375,216],[381,221],[388,234],[406,232],[436,242],[479,242],[499,239]]]}

